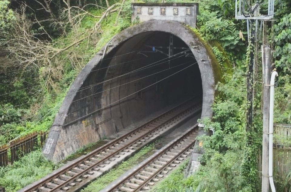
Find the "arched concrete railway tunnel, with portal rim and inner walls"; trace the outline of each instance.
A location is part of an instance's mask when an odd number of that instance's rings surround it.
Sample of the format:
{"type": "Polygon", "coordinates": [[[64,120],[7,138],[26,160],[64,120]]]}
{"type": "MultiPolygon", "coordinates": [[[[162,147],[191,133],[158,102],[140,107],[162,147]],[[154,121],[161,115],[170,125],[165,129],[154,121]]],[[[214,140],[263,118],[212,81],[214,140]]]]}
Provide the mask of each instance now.
{"type": "Polygon", "coordinates": [[[43,153],[55,162],[63,160],[85,144],[192,97],[202,101],[201,118],[211,117],[220,78],[209,47],[189,27],[155,20],[129,27],[76,77],[43,153]]]}

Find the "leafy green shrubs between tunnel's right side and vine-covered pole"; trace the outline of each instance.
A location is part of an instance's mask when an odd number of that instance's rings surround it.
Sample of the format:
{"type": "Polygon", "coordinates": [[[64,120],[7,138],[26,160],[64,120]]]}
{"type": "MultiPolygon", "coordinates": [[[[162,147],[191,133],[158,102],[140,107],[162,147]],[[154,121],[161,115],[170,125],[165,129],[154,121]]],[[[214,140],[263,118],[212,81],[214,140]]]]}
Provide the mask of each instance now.
{"type": "MultiPolygon", "coordinates": [[[[244,170],[247,167],[244,164],[247,163],[244,160],[245,151],[252,149],[246,147],[244,72],[236,69],[232,75],[225,75],[225,83],[218,83],[216,89],[220,96],[212,106],[214,122],[206,118],[201,122],[205,125],[206,131],[212,128],[214,133],[212,136],[204,135],[198,138],[205,150],[201,159],[204,166],[200,166],[199,170],[183,180],[182,184],[185,187],[192,187],[197,192],[256,191],[257,186],[252,179],[256,178],[258,183],[257,167],[244,170]],[[250,176],[249,180],[246,173],[250,176]]],[[[257,148],[257,143],[255,146],[257,148]]]]}

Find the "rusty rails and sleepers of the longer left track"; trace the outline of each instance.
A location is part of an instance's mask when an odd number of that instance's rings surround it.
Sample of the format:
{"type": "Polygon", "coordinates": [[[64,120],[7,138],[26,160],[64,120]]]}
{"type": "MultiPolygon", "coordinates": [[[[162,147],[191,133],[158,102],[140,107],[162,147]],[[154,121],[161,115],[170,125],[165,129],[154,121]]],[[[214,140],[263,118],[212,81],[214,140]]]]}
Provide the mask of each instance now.
{"type": "Polygon", "coordinates": [[[142,126],[135,128],[129,133],[126,133],[112,142],[92,151],[64,169],[53,173],[48,178],[24,188],[22,192],[69,190],[69,187],[74,187],[76,186],[76,183],[82,182],[82,179],[80,178],[88,178],[89,175],[98,172],[101,167],[106,165],[106,163],[114,161],[115,158],[119,158],[120,155],[124,155],[124,153],[134,151],[136,146],[145,142],[145,140],[154,137],[154,135],[157,134],[155,131],[165,129],[166,123],[182,116],[182,114],[189,115],[191,110],[193,111],[193,109],[197,109],[197,106],[196,108],[194,106],[200,102],[200,100],[196,101],[194,98],[187,100],[142,126]]]}

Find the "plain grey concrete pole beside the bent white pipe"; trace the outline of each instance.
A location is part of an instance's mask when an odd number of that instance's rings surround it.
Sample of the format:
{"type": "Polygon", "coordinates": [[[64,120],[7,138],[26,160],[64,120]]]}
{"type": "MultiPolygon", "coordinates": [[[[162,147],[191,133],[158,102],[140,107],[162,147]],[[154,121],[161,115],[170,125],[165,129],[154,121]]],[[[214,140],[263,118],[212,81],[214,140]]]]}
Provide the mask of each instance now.
{"type": "MultiPolygon", "coordinates": [[[[263,45],[262,45],[263,46],[263,45]]],[[[262,49],[263,50],[263,49],[262,49]]],[[[262,192],[269,192],[269,108],[271,80],[271,49],[265,47],[263,52],[263,149],[262,149],[262,192]]]]}

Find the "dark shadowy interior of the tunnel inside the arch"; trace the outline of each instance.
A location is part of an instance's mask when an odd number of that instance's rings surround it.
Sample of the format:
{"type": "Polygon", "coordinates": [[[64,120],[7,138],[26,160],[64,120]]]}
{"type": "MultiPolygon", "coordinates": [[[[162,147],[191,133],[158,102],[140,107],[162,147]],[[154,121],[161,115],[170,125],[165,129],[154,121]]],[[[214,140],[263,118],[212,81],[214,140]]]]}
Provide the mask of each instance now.
{"type": "Polygon", "coordinates": [[[90,72],[82,87],[88,86],[76,95],[81,102],[70,108],[66,123],[77,109],[81,115],[97,111],[98,134],[107,136],[166,106],[202,100],[195,57],[185,42],[166,32],[143,32],[118,45],[90,72]]]}

